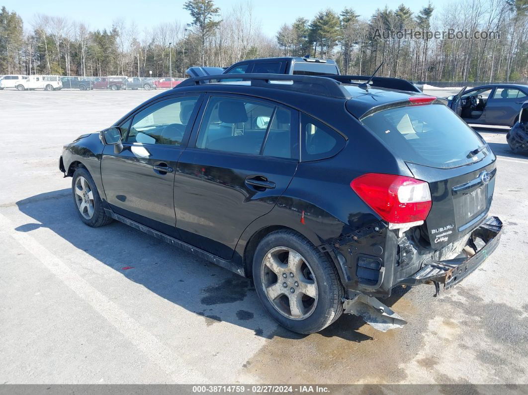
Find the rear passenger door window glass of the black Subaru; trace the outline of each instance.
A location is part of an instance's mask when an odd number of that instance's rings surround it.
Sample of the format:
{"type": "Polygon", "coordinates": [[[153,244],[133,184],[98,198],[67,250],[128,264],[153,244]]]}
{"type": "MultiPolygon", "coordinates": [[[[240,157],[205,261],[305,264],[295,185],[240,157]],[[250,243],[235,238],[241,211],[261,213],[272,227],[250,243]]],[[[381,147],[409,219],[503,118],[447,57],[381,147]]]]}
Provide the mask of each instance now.
{"type": "Polygon", "coordinates": [[[291,111],[246,99],[211,97],[196,148],[296,158],[291,111]]]}

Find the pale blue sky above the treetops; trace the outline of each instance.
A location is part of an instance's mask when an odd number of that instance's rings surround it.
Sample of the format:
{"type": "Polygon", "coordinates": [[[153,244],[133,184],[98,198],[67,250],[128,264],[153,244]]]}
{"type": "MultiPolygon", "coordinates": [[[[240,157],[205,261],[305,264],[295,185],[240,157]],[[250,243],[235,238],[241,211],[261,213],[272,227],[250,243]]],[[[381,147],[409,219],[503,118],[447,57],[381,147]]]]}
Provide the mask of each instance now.
{"type": "MultiPolygon", "coordinates": [[[[431,0],[431,3],[440,9],[448,0],[431,0]]],[[[123,18],[127,22],[135,21],[140,30],[161,22],[178,20],[190,23],[191,17],[183,9],[184,0],[157,0],[156,2],[130,2],[125,0],[91,0],[89,2],[53,1],[42,0],[3,0],[0,5],[5,5],[9,11],[15,11],[22,16],[24,26],[29,27],[36,13],[53,16],[65,16],[72,20],[87,23],[93,28],[110,27],[116,18],[123,18]],[[132,4],[132,5],[131,5],[132,4]]],[[[216,0],[215,4],[221,11],[230,11],[238,0],[216,0]]],[[[370,17],[376,8],[388,5],[390,8],[404,3],[413,12],[427,5],[427,0],[406,0],[394,3],[386,0],[370,0],[368,2],[351,2],[350,0],[332,0],[330,2],[316,2],[313,0],[261,0],[253,1],[254,16],[259,20],[263,33],[274,36],[283,23],[291,23],[298,16],[308,20],[323,8],[331,7],[340,12],[344,7],[353,8],[363,17],[370,17]]]]}

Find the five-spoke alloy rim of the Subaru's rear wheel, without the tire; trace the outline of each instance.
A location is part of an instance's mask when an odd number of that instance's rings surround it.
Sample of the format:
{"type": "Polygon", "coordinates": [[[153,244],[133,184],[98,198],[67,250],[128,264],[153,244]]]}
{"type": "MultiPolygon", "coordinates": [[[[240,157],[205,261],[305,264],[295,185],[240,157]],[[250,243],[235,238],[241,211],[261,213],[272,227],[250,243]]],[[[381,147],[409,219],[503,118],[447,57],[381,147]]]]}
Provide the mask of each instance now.
{"type": "Polygon", "coordinates": [[[312,268],[297,251],[275,247],[265,255],[261,284],[271,305],[291,320],[304,320],[317,306],[317,281],[312,268]]]}

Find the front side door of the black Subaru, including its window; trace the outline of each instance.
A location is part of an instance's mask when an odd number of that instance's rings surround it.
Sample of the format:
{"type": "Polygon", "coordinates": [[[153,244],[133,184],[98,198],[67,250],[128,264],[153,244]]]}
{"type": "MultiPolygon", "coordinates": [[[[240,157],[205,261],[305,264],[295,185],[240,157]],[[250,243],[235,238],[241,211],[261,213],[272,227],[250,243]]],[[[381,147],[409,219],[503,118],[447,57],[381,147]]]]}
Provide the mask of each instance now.
{"type": "Polygon", "coordinates": [[[105,147],[101,176],[115,213],[176,235],[174,174],[199,99],[186,95],[150,104],[123,124],[121,152],[105,147]]]}

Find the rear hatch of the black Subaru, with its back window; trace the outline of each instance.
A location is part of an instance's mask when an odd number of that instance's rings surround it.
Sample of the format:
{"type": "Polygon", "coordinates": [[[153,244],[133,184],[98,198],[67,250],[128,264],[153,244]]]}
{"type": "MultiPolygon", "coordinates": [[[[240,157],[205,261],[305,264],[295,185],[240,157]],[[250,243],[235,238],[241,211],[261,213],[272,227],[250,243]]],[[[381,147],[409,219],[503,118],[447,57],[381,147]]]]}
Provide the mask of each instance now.
{"type": "Polygon", "coordinates": [[[495,156],[447,107],[407,105],[362,121],[407,163],[414,177],[428,182],[432,207],[422,232],[432,247],[455,242],[486,218],[495,156]]]}

